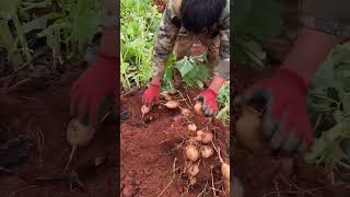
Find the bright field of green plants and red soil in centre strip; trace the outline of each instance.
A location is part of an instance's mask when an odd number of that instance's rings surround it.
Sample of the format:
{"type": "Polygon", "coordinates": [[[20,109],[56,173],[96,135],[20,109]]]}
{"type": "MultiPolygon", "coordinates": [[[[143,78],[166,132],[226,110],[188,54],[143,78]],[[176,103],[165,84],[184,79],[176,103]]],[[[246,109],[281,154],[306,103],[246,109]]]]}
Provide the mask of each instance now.
{"type": "Polygon", "coordinates": [[[206,67],[191,65],[187,59],[175,62],[170,56],[162,91],[167,91],[171,100],[177,101],[179,106],[165,107],[163,97],[163,104],[153,106],[149,114],[141,113],[141,96],[152,76],[154,35],[161,20],[160,12],[164,10],[163,1],[155,3],[158,7],[152,1],[121,2],[121,195],[212,196],[215,193],[229,196],[218,157],[220,152],[223,162],[229,163],[229,83],[220,93],[219,119],[198,115],[194,111],[194,99],[203,89],[201,79],[207,76],[206,67]],[[175,90],[172,71],[186,65],[192,68],[187,69],[190,74],[182,76],[185,83],[175,90]],[[203,74],[196,76],[200,71],[203,74]],[[190,124],[197,129],[189,130],[190,124]],[[212,143],[194,140],[198,130],[212,135],[212,143]],[[196,150],[208,146],[213,155],[190,162],[186,157],[189,146],[196,150]],[[198,174],[191,175],[191,167],[198,167],[198,174]]]}

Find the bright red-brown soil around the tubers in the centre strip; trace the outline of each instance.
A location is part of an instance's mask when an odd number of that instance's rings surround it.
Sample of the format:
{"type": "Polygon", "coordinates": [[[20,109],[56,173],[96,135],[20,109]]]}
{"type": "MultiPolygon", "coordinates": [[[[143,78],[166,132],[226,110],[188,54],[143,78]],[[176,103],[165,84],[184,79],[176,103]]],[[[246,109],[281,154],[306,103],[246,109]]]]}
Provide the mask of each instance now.
{"type": "MultiPolygon", "coordinates": [[[[188,91],[187,93],[189,97],[194,97],[196,92],[188,91]]],[[[186,95],[185,92],[183,95],[186,95]]],[[[209,159],[199,159],[201,161],[200,172],[195,185],[189,186],[188,176],[182,173],[186,161],[183,154],[186,146],[182,142],[196,135],[188,131],[187,121],[180,115],[180,109],[168,109],[162,105],[153,107],[143,117],[147,124],[142,126],[140,124],[141,103],[139,93],[121,97],[121,109],[129,112],[129,118],[120,125],[120,189],[122,195],[158,196],[164,190],[161,196],[191,197],[200,193],[203,196],[212,196],[210,188],[212,179],[214,187],[223,190],[217,153],[209,159]],[[152,120],[148,121],[149,119],[152,120]],[[213,178],[210,171],[211,165],[213,178]]],[[[182,102],[180,106],[186,107],[186,104],[182,102]]],[[[208,129],[214,134],[214,144],[220,147],[222,157],[228,160],[229,127],[217,119],[201,115],[192,114],[189,119],[197,125],[198,129],[208,129]]],[[[218,195],[228,196],[223,192],[218,195]]]]}

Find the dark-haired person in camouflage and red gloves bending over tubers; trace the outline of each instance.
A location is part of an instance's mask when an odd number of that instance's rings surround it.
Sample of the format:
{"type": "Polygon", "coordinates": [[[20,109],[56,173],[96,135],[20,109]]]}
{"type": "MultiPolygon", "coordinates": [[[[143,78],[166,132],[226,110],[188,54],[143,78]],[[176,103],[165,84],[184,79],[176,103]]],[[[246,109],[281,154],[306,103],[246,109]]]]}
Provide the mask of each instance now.
{"type": "Polygon", "coordinates": [[[152,106],[160,102],[161,80],[172,51],[175,60],[179,60],[206,48],[214,76],[197,100],[203,103],[206,115],[215,115],[219,112],[218,93],[230,78],[229,40],[230,0],[168,0],[159,26],[152,58],[153,74],[143,92],[143,104],[152,106]]]}

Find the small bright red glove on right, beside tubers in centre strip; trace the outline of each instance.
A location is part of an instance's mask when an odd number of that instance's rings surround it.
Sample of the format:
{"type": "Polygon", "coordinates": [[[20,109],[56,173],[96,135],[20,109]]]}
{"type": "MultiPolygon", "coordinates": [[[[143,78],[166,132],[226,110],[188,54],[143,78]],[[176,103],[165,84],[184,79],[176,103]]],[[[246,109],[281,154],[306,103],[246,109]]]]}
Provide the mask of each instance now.
{"type": "Polygon", "coordinates": [[[196,100],[203,103],[201,109],[206,115],[213,116],[219,113],[217,97],[218,94],[214,91],[207,89],[198,94],[196,100]]]}

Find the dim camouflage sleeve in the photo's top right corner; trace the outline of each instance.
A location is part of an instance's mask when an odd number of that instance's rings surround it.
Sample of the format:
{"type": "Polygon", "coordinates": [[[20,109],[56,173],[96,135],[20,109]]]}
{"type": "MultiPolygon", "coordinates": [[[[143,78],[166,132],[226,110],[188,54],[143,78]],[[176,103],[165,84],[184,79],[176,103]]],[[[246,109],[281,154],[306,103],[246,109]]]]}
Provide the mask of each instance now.
{"type": "Polygon", "coordinates": [[[303,0],[303,22],[317,31],[350,36],[350,1],[349,0],[303,0]]]}

